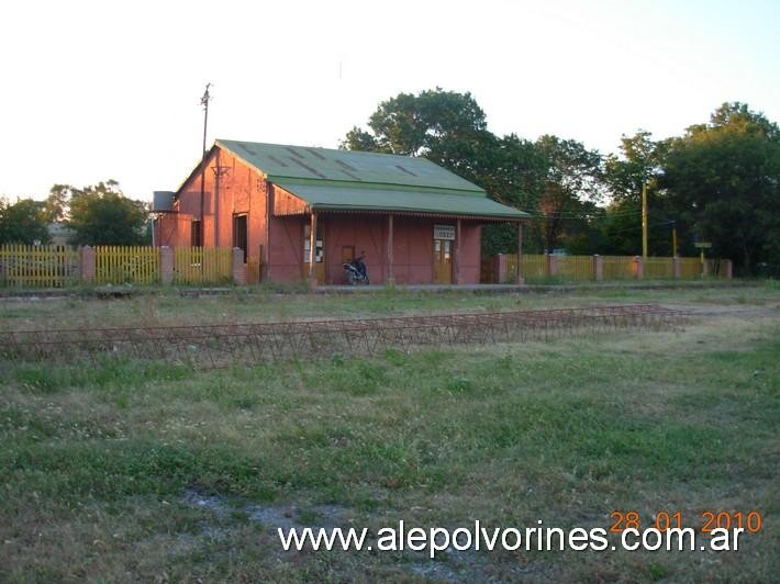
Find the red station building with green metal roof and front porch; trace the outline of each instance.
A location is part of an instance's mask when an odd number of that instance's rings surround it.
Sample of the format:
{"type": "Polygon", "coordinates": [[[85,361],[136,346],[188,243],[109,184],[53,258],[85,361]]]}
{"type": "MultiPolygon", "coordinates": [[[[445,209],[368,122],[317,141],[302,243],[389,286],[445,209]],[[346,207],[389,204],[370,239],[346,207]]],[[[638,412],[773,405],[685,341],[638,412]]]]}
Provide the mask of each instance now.
{"type": "Polygon", "coordinates": [[[312,284],[361,254],[372,283],[478,283],[481,225],[528,218],[425,158],[227,139],[154,212],[155,245],[237,247],[255,280],[312,284]]]}

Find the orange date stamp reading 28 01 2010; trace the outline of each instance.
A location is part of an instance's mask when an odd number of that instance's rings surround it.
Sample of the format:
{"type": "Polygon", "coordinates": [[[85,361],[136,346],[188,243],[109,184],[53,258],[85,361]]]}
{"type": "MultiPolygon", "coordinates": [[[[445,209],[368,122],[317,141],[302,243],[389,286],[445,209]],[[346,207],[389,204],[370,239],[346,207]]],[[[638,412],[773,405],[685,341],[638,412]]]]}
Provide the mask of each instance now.
{"type": "MultiPolygon", "coordinates": [[[[625,529],[636,529],[640,530],[642,517],[638,512],[635,510],[614,510],[610,514],[610,518],[613,520],[610,531],[613,534],[620,534],[625,529]]],[[[756,534],[761,530],[764,526],[764,518],[761,514],[757,510],[751,510],[748,513],[743,512],[713,512],[704,510],[699,514],[699,521],[701,525],[698,529],[702,534],[710,534],[713,529],[745,529],[748,534],[756,534]]],[[[645,525],[645,528],[655,528],[659,531],[666,531],[667,529],[682,528],[682,512],[666,512],[659,510],[653,516],[653,521],[650,525],[645,525]]]]}

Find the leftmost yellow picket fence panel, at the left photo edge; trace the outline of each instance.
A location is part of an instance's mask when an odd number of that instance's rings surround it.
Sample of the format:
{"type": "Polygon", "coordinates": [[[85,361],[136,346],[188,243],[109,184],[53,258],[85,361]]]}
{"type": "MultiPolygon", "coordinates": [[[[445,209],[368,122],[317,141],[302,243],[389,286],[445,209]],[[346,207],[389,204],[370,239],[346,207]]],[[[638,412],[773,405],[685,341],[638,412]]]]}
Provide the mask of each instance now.
{"type": "Polygon", "coordinates": [[[59,288],[78,282],[79,252],[65,246],[0,247],[0,285],[59,288]]]}

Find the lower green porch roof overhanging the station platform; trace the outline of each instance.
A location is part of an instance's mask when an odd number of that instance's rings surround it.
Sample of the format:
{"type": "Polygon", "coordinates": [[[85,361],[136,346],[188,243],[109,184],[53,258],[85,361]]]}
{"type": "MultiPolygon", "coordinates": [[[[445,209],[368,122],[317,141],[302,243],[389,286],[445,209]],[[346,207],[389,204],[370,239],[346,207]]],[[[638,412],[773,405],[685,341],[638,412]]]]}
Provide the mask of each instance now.
{"type": "Polygon", "coordinates": [[[528,217],[527,213],[497,203],[487,196],[475,194],[452,194],[387,188],[355,188],[294,181],[281,181],[277,182],[277,184],[303,199],[314,210],[395,211],[493,217],[499,220],[528,217]]]}

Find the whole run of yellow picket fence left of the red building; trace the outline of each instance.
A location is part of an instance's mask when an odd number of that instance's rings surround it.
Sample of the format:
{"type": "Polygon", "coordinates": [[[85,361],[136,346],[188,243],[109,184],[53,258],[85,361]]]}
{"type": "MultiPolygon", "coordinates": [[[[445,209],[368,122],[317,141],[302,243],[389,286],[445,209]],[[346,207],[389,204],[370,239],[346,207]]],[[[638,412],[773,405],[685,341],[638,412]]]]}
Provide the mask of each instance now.
{"type": "MultiPolygon", "coordinates": [[[[0,285],[63,288],[79,283],[221,284],[233,281],[231,248],[172,248],[169,273],[164,273],[163,249],[3,245],[0,247],[0,285]]],[[[171,252],[170,249],[167,252],[171,252]]]]}

